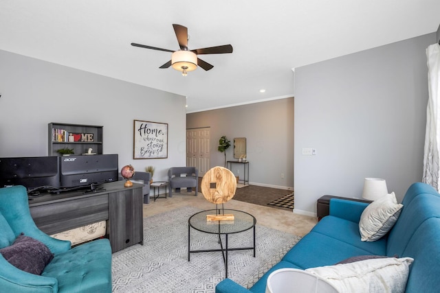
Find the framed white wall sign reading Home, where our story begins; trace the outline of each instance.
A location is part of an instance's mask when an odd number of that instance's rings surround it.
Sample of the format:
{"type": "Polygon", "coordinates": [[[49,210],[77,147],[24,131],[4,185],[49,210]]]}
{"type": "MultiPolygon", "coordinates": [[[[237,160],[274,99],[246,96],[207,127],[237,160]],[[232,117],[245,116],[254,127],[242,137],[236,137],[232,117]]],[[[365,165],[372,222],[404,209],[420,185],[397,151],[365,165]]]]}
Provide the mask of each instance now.
{"type": "Polygon", "coordinates": [[[168,158],[168,124],[134,120],[133,159],[168,158]]]}

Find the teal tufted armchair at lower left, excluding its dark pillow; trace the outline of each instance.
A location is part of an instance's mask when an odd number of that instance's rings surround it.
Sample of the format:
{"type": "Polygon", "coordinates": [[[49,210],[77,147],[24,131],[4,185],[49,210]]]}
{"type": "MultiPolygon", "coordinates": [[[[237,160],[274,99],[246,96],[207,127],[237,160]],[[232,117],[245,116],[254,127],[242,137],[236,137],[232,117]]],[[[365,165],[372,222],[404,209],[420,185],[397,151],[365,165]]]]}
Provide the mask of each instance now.
{"type": "Polygon", "coordinates": [[[69,241],[52,238],[39,230],[30,215],[25,187],[0,188],[0,250],[13,246],[21,233],[45,244],[54,258],[38,275],[12,266],[0,254],[1,292],[111,292],[108,239],[71,248],[69,241]]]}

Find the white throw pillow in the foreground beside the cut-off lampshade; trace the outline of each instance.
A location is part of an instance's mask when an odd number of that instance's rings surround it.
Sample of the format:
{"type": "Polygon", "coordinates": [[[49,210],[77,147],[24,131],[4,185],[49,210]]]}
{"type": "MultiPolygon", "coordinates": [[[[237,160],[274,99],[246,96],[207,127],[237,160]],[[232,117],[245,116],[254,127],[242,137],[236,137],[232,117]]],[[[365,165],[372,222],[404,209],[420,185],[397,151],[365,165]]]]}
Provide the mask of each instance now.
{"type": "Polygon", "coordinates": [[[340,293],[403,293],[412,261],[414,259],[410,257],[366,259],[336,266],[308,268],[306,271],[325,279],[340,293]]]}

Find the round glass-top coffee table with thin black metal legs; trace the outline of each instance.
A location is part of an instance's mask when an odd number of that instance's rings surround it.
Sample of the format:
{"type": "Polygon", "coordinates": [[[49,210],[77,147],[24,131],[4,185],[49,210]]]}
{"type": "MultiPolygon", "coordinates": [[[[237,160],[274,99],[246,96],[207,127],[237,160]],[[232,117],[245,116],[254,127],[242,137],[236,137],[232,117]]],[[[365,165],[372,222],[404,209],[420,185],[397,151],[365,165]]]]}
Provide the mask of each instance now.
{"type": "Polygon", "coordinates": [[[213,251],[221,251],[223,254],[223,261],[225,263],[225,277],[228,278],[228,251],[232,250],[254,250],[255,257],[255,224],[256,219],[250,213],[245,211],[237,211],[234,209],[210,209],[208,211],[201,211],[195,213],[188,220],[188,261],[190,261],[191,253],[208,253],[213,251]],[[207,221],[207,215],[216,214],[232,214],[234,215],[234,220],[224,220],[224,221],[207,221]],[[205,250],[191,250],[191,228],[201,231],[203,233],[217,234],[219,235],[220,248],[218,249],[205,249],[205,250]],[[253,246],[252,247],[236,247],[229,248],[228,235],[234,233],[241,233],[248,231],[253,228],[253,246]],[[224,235],[224,247],[221,235],[224,235]]]}

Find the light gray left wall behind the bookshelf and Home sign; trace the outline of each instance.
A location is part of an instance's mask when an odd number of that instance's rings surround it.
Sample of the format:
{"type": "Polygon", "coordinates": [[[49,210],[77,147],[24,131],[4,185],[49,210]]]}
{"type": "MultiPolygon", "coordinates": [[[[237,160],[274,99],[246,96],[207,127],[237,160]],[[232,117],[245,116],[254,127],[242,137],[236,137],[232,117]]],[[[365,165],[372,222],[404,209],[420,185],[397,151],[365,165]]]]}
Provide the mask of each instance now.
{"type": "Polygon", "coordinates": [[[138,171],[186,164],[186,99],[0,51],[0,156],[47,156],[50,122],[104,126],[104,154],[138,171]],[[168,159],[133,160],[133,119],[168,123],[168,159]]]}

